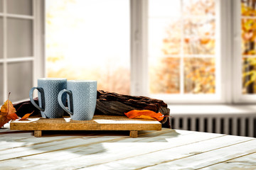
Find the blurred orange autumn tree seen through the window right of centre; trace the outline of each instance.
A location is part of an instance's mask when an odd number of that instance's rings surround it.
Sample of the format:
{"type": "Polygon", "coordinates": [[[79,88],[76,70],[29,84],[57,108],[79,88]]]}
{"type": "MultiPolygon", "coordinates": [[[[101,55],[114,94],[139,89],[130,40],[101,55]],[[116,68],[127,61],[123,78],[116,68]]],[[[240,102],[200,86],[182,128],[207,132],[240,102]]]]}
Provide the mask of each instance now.
{"type": "Polygon", "coordinates": [[[215,1],[183,0],[181,15],[166,27],[162,57],[150,62],[150,91],[179,94],[183,88],[185,94],[214,94],[215,1]]]}

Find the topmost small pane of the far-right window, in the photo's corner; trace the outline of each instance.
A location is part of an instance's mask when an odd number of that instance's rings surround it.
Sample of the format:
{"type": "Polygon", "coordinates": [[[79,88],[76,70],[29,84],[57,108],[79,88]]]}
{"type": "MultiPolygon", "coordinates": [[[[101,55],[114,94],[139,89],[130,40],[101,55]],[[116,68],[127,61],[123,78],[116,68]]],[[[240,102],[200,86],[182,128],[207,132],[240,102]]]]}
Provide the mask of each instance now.
{"type": "Polygon", "coordinates": [[[255,4],[256,4],[256,1],[241,0],[241,15],[242,16],[256,16],[255,4]]]}

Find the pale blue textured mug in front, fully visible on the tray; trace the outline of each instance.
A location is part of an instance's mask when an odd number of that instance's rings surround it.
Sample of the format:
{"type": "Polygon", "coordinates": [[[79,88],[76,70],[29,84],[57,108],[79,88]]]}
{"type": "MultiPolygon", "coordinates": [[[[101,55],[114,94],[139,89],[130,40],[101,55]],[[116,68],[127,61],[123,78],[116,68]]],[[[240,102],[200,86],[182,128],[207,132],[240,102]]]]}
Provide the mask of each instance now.
{"type": "Polygon", "coordinates": [[[67,83],[67,89],[58,94],[58,103],[73,120],[92,120],[96,101],[97,81],[71,80],[67,83]],[[63,94],[68,94],[68,109],[63,104],[63,94]]]}

